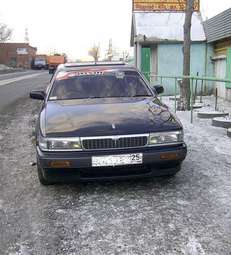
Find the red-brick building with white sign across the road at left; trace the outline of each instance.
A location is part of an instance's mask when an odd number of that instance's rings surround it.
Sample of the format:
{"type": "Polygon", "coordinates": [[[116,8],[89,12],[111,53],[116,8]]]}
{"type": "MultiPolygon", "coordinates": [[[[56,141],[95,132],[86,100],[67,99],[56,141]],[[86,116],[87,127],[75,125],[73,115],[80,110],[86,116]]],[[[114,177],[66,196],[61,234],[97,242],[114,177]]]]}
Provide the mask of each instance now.
{"type": "Polygon", "coordinates": [[[29,43],[0,43],[0,64],[31,68],[36,51],[29,43]]]}

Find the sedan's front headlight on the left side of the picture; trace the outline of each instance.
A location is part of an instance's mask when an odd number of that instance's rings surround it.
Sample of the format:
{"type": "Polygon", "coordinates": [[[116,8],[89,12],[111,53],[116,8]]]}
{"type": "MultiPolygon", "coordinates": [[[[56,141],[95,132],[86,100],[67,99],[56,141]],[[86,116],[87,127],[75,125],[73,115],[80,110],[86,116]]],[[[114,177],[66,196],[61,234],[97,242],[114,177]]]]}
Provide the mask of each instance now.
{"type": "Polygon", "coordinates": [[[79,138],[44,138],[39,137],[39,147],[43,151],[75,151],[81,150],[79,138]]]}

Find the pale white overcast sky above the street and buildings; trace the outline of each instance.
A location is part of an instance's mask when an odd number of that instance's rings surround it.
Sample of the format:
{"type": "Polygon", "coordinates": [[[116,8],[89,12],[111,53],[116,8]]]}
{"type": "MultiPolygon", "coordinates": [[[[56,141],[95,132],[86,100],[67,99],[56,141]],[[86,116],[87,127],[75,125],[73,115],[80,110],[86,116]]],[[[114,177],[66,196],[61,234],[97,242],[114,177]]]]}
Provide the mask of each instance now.
{"type": "MultiPolygon", "coordinates": [[[[28,28],[39,53],[86,58],[94,43],[103,53],[110,38],[114,47],[129,50],[132,0],[0,0],[0,6],[0,22],[13,29],[12,41],[23,42],[28,28]]],[[[230,7],[231,0],[201,0],[204,18],[230,7]]]]}

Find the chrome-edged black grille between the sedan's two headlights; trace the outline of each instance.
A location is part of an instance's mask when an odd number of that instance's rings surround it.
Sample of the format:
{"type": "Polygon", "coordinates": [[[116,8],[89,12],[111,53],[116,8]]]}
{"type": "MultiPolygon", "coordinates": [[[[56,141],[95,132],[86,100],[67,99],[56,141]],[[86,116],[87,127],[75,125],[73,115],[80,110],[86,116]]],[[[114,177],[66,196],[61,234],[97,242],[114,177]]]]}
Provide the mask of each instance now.
{"type": "Polygon", "coordinates": [[[109,138],[84,138],[82,146],[85,150],[122,149],[143,147],[147,144],[147,135],[109,138]]]}

